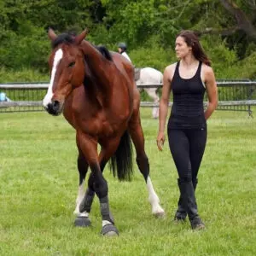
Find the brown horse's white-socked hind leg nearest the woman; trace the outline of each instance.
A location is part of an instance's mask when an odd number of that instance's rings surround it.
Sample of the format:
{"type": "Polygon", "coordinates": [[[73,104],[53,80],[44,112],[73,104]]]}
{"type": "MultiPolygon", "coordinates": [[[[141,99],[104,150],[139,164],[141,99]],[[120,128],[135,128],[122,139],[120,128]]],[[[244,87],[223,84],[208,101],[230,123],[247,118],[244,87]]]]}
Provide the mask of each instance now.
{"type": "Polygon", "coordinates": [[[142,172],[145,182],[147,183],[148,201],[152,206],[152,213],[156,217],[163,217],[165,215],[165,211],[160,207],[159,197],[156,195],[149,177],[149,163],[147,154],[145,153],[143,128],[140,122],[139,113],[137,113],[137,116],[136,113],[133,114],[129,123],[129,133],[136,148],[137,166],[140,172],[142,172]]]}

